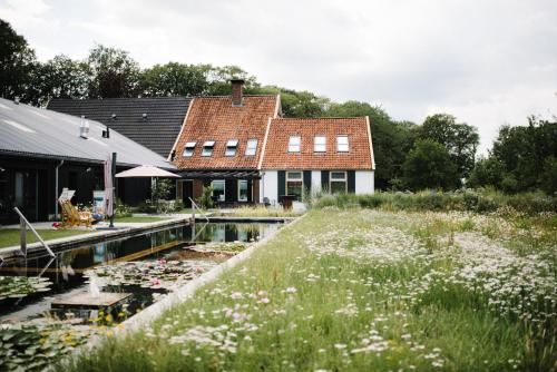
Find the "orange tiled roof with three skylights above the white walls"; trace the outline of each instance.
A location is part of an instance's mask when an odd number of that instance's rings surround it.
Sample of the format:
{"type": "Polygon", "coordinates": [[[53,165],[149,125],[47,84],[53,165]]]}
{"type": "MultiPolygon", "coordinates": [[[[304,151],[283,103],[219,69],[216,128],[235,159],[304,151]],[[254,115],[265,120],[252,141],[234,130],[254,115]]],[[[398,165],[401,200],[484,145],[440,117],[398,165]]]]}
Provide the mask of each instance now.
{"type": "Polygon", "coordinates": [[[372,169],[368,118],[273,119],[262,169],[372,169]],[[336,150],[348,135],[349,151],[336,150]],[[289,153],[291,136],[301,136],[300,153],[289,153]],[[326,137],[326,151],[314,151],[314,137],[326,137]]]}

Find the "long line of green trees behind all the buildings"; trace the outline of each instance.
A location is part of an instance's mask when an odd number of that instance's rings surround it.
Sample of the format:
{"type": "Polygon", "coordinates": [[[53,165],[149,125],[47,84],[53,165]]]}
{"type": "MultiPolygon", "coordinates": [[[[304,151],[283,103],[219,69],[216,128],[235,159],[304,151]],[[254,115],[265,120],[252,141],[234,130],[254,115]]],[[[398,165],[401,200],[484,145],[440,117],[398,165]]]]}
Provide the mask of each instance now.
{"type": "Polygon", "coordinates": [[[45,106],[51,98],[228,95],[228,80],[243,78],[246,94],[281,95],[286,117],[369,116],[377,188],[557,190],[557,120],[530,118],[528,127],[502,127],[489,156],[476,161],[477,129],[448,114],[429,116],[421,125],[399,121],[368,102],[334,102],[310,91],[263,86],[237,66],[168,62],[140,68],[128,52],[100,45],[84,60],[60,55],[40,62],[2,20],[0,43],[0,95],[8,99],[18,96],[45,106]]]}

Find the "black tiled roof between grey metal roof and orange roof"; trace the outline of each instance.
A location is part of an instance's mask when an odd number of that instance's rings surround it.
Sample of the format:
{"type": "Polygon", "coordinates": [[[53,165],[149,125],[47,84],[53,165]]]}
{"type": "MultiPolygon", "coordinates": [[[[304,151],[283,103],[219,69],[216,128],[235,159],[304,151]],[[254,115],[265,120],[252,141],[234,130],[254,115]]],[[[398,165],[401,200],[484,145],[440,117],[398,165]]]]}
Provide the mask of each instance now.
{"type": "Polygon", "coordinates": [[[100,121],[166,158],[178,137],[190,100],[189,97],[58,98],[50,100],[47,108],[100,121]]]}

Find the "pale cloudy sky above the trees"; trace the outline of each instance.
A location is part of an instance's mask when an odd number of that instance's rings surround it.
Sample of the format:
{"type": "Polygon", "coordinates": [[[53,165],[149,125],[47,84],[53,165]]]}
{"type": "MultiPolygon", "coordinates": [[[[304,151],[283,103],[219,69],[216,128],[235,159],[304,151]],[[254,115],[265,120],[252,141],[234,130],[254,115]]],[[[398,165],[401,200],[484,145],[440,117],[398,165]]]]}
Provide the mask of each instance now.
{"type": "Polygon", "coordinates": [[[557,115],[555,0],[0,0],[40,60],[95,43],[141,67],[237,65],[264,85],[478,128],[557,115]]]}

